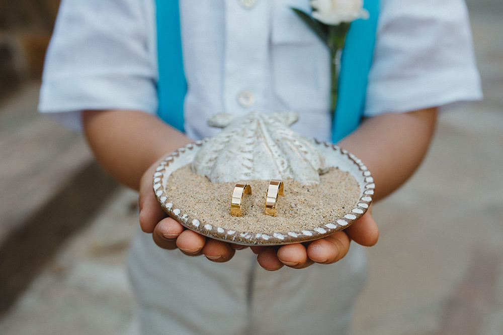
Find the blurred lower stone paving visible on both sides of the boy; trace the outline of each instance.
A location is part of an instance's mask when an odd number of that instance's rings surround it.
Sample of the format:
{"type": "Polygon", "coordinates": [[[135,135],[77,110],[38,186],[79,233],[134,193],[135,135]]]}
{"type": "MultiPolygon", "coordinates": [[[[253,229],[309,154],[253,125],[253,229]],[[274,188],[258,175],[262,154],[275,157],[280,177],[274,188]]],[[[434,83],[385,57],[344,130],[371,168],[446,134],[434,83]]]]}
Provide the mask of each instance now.
{"type": "MultiPolygon", "coordinates": [[[[503,6],[468,1],[485,98],[441,115],[432,149],[374,208],[379,243],[354,335],[503,333],[503,6]]],[[[0,333],[137,333],[125,259],[136,195],[119,188],[0,319],[0,333]]]]}

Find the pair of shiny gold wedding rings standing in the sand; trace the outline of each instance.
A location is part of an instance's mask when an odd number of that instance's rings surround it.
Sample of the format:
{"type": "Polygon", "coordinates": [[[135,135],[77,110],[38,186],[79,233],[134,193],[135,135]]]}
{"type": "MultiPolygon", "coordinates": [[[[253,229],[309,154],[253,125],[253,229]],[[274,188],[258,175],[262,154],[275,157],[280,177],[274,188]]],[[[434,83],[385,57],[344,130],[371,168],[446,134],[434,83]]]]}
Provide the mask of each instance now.
{"type": "MultiPolygon", "coordinates": [[[[232,200],[230,202],[230,214],[232,216],[243,216],[241,202],[244,194],[251,194],[251,186],[244,181],[240,181],[234,187],[232,200]]],[[[266,194],[266,206],[264,212],[267,215],[276,216],[276,202],[278,195],[285,195],[283,182],[279,179],[271,179],[266,194]]]]}

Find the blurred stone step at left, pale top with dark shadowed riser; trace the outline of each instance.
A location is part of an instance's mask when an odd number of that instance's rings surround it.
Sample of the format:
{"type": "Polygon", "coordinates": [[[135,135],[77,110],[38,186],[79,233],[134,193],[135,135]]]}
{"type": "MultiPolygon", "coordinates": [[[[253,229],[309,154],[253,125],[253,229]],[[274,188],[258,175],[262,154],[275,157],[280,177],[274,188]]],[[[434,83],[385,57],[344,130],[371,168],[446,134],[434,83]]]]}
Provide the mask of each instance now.
{"type": "Polygon", "coordinates": [[[117,187],[79,134],[36,113],[39,89],[0,106],[0,314],[117,187]]]}

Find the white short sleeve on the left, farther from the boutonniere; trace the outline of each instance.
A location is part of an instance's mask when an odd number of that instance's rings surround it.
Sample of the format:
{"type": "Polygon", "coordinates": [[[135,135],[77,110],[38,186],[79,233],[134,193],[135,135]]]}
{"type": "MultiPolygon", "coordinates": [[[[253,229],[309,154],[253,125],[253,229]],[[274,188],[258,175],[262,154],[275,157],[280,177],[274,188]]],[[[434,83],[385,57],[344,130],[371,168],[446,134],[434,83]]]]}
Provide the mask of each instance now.
{"type": "Polygon", "coordinates": [[[157,109],[154,7],[63,0],[46,54],[39,110],[80,128],[85,109],[157,109]]]}

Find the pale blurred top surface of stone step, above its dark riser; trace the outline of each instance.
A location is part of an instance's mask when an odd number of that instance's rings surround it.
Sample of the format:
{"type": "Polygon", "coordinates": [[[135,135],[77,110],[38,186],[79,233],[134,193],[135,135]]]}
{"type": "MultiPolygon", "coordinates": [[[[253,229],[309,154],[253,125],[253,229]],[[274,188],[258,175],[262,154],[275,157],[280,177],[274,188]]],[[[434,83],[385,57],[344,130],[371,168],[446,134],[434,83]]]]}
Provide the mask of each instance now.
{"type": "Polygon", "coordinates": [[[92,159],[78,134],[36,113],[39,89],[38,82],[30,82],[0,107],[0,185],[9,190],[0,194],[0,244],[31,208],[42,206],[92,159]],[[26,180],[35,187],[22,187],[26,180]]]}

